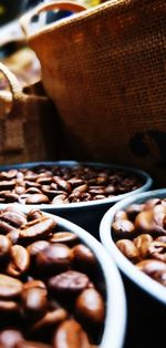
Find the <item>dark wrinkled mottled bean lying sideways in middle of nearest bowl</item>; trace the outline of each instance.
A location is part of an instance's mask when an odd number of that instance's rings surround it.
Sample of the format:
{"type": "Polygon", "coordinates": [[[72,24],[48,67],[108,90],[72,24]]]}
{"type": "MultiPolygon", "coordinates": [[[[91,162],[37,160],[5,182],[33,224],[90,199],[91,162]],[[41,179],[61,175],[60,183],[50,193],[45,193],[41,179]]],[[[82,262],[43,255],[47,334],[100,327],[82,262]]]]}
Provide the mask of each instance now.
{"type": "Polygon", "coordinates": [[[89,287],[89,277],[80,272],[68,270],[49,279],[49,288],[60,294],[76,295],[89,287]]]}

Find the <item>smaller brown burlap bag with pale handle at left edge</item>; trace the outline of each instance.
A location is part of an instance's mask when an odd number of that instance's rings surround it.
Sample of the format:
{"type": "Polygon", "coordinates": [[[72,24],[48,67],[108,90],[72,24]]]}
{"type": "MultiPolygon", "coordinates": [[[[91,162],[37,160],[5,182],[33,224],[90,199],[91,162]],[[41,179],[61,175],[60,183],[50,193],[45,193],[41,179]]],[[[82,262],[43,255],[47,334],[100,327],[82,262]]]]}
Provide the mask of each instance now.
{"type": "Polygon", "coordinates": [[[49,98],[39,93],[42,85],[29,86],[25,93],[2,63],[0,72],[10,85],[10,92],[0,91],[0,164],[59,158],[56,112],[49,98]]]}

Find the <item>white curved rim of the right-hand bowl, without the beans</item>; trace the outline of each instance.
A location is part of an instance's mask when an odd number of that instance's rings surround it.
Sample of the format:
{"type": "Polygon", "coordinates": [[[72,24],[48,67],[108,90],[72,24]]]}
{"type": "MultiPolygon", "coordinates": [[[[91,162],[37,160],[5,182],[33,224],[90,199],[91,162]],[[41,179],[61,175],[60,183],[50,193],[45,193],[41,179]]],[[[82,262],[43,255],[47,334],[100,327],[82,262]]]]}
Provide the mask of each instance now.
{"type": "Polygon", "coordinates": [[[111,227],[108,228],[108,226],[112,225],[115,213],[117,211],[125,209],[128,205],[133,203],[142,203],[146,199],[154,197],[166,197],[166,188],[144,192],[116,203],[104,214],[101,221],[100,238],[102,244],[108,250],[110,255],[113,257],[120,270],[125,274],[127,278],[134,282],[136,286],[145,290],[148,295],[151,295],[158,301],[166,305],[166,288],[146,274],[144,274],[142,270],[137,269],[136,266],[122,254],[122,252],[117,248],[113,240],[111,227]]]}

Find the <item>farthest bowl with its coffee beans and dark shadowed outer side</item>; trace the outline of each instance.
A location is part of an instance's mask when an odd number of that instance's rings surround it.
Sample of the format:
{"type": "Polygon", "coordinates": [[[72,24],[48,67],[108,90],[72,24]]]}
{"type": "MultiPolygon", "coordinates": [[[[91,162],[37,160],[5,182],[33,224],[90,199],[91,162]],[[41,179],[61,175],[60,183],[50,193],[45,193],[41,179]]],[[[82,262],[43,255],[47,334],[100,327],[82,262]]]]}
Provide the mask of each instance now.
{"type": "Polygon", "coordinates": [[[97,231],[115,202],[149,188],[144,172],[98,163],[24,163],[0,168],[0,202],[35,206],[97,231]],[[86,216],[84,216],[84,213],[86,216]]]}

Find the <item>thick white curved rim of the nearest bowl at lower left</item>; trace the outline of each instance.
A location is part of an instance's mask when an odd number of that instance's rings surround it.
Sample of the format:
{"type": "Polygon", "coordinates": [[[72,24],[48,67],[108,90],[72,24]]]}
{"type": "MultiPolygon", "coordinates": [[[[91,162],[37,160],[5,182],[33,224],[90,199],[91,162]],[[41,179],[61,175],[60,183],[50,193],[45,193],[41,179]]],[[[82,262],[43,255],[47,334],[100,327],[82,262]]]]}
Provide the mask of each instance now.
{"type": "MultiPolygon", "coordinates": [[[[31,211],[31,207],[20,204],[18,204],[17,207],[23,213],[31,211]]],[[[0,204],[0,209],[4,209],[3,204],[0,204]]],[[[43,212],[43,214],[54,217],[58,224],[62,227],[64,226],[65,229],[74,232],[95,254],[103,270],[106,286],[106,316],[100,348],[107,348],[107,342],[110,340],[112,341],[112,348],[123,348],[127,320],[127,306],[124,285],[115,263],[110,257],[104,246],[85,229],[58,215],[46,212],[43,212]]]]}

